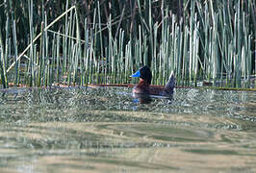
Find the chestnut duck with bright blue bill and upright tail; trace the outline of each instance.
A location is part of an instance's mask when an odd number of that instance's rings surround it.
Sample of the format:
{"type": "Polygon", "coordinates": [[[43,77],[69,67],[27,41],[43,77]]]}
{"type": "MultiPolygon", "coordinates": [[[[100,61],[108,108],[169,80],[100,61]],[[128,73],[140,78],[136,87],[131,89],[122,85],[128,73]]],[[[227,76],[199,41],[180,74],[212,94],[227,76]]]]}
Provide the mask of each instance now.
{"type": "Polygon", "coordinates": [[[139,84],[133,87],[133,94],[172,96],[176,79],[173,71],[169,75],[166,86],[151,85],[152,73],[147,65],[142,66],[130,77],[139,77],[139,84]]]}

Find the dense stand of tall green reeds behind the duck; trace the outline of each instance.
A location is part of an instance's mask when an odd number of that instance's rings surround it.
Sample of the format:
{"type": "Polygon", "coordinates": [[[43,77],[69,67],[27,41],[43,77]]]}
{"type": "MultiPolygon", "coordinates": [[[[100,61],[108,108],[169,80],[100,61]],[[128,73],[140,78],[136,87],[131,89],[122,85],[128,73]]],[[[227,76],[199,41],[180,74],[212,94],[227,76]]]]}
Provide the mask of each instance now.
{"type": "Polygon", "coordinates": [[[255,91],[253,0],[0,0],[0,87],[153,85],[255,91]],[[202,85],[198,85],[202,83],[202,85]],[[57,85],[57,86],[58,86],[57,85]]]}

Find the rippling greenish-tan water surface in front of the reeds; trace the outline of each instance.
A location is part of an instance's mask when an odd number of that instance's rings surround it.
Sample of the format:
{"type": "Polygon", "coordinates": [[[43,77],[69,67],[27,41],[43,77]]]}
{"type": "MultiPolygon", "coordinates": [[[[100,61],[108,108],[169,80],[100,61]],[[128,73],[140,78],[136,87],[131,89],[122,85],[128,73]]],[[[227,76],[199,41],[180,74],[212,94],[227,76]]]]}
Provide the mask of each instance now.
{"type": "Polygon", "coordinates": [[[0,91],[0,172],[256,172],[256,92],[0,91]]]}

